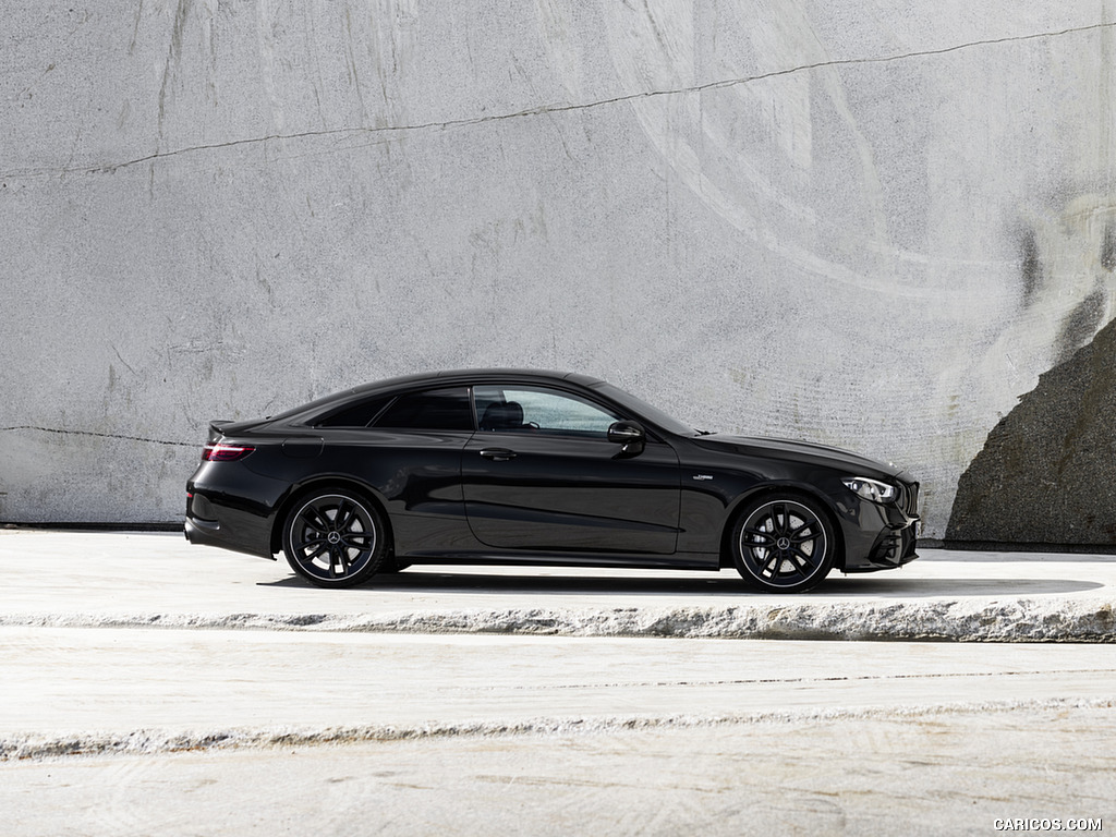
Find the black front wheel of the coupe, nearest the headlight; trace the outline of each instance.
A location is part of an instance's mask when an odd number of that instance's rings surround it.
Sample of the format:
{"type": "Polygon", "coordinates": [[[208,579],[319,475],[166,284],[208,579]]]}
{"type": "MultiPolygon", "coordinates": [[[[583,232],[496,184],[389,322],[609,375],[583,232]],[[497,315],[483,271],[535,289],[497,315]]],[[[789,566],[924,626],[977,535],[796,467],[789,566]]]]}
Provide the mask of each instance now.
{"type": "Polygon", "coordinates": [[[732,530],[732,560],[745,581],[768,593],[801,593],[834,565],[837,538],[829,516],[801,494],[764,494],[732,530]]]}

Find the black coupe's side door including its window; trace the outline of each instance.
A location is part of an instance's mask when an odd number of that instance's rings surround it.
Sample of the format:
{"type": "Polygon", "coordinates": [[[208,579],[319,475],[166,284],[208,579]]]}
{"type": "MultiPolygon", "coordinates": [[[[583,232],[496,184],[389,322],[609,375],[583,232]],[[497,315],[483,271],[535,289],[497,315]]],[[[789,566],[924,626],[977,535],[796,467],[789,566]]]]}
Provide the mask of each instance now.
{"type": "Polygon", "coordinates": [[[478,432],[462,456],[465,516],[500,549],[674,551],[679,460],[650,437],[638,452],[609,442],[616,410],[537,385],[473,387],[478,432]]]}

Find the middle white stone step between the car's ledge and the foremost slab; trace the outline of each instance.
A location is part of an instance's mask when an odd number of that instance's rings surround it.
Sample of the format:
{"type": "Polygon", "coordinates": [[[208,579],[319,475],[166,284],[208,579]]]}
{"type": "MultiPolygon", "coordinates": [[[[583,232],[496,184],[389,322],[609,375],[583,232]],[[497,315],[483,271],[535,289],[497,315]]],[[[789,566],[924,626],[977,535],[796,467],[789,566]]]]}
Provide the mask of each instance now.
{"type": "Polygon", "coordinates": [[[0,758],[1106,705],[1104,645],[0,628],[0,758]]]}

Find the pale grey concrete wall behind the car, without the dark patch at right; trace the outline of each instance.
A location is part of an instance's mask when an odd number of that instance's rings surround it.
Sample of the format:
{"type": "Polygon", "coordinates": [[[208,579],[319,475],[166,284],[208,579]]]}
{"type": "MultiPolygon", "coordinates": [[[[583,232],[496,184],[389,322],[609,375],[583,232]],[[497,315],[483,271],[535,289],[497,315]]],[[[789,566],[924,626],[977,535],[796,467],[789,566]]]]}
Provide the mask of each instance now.
{"type": "Polygon", "coordinates": [[[903,463],[940,538],[1113,318],[1112,0],[3,10],[0,520],[174,520],[209,419],[517,365],[903,463]]]}

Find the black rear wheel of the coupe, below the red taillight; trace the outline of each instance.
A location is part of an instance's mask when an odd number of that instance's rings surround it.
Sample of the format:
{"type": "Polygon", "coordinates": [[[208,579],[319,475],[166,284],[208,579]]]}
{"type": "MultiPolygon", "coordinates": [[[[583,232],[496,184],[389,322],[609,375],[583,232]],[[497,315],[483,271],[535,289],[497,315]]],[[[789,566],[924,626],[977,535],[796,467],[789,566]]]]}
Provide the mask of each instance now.
{"type": "Polygon", "coordinates": [[[296,502],[283,521],[282,550],[318,587],[353,587],[372,578],[386,550],[383,518],[347,489],[321,489],[296,502]]]}

